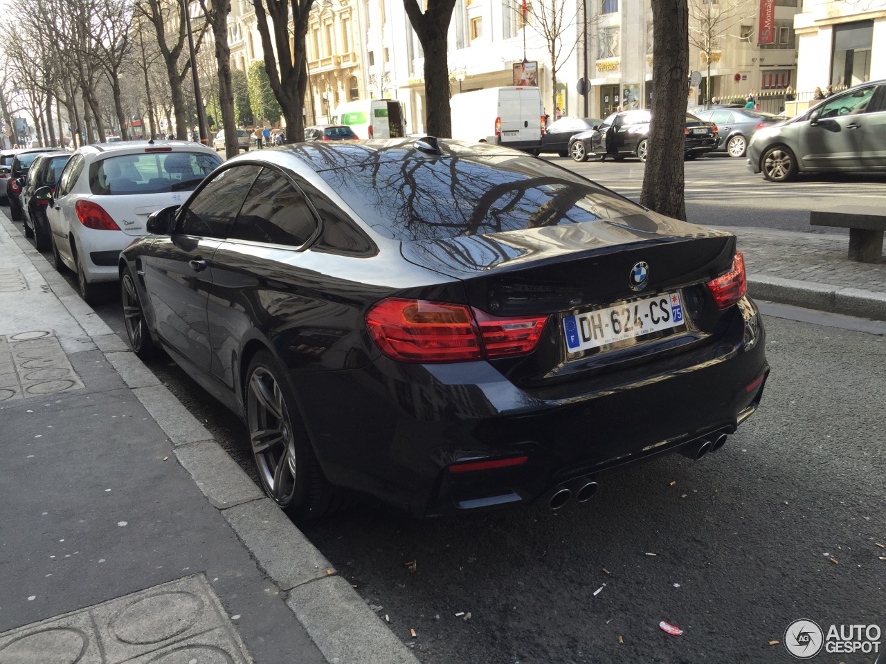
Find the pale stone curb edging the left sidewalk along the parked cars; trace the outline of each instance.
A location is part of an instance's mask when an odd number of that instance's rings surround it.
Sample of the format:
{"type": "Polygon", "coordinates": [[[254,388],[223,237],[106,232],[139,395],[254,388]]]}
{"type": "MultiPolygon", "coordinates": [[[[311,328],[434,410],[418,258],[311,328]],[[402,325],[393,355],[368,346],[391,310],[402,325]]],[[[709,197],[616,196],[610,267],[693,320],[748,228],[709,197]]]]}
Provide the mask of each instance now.
{"type": "MultiPolygon", "coordinates": [[[[84,332],[90,338],[101,337],[100,343],[107,349],[107,354],[104,349],[99,349],[99,352],[105,355],[109,365],[120,374],[123,382],[167,434],[182,467],[210,504],[221,511],[259,567],[281,590],[296,589],[293,592],[297,592],[299,597],[310,598],[312,610],[317,615],[338,618],[335,631],[330,632],[329,622],[305,622],[302,619],[305,612],[296,608],[301,606],[299,602],[295,606],[291,602],[286,603],[323,656],[333,664],[419,664],[407,646],[369,610],[350,584],[335,576],[335,570],[314,544],[269,498],[264,498],[264,493],[237,467],[227,452],[221,450],[209,431],[175,395],[159,381],[158,384],[142,386],[144,382],[150,382],[144,373],[151,374],[150,370],[144,367],[135,353],[128,350],[128,345],[124,343],[125,350],[122,350],[119,344],[110,340],[111,336],[116,336],[113,330],[92,307],[82,301],[61,275],[51,266],[41,269],[43,266],[34,263],[33,258],[39,254],[27,243],[19,228],[4,214],[0,214],[0,223],[4,224],[13,241],[24,251],[24,258],[40,272],[53,295],[84,332]],[[130,380],[134,383],[130,383],[130,380]],[[227,457],[229,463],[218,456],[216,448],[227,457]],[[203,452],[208,453],[209,459],[204,458],[203,452]],[[251,496],[255,498],[248,498],[251,496]],[[330,585],[328,582],[333,580],[340,583],[330,585]],[[307,592],[307,589],[311,591],[307,592]],[[333,657],[329,652],[336,654],[333,657]]],[[[93,343],[93,347],[99,348],[99,343],[93,343]]]]}

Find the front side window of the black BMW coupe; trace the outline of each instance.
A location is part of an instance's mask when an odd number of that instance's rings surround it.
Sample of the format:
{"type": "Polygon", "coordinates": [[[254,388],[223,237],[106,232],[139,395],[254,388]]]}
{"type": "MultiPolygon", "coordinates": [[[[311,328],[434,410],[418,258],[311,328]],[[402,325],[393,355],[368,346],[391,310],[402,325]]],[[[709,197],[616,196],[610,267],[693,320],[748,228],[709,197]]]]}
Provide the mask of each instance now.
{"type": "Polygon", "coordinates": [[[178,215],[176,231],[225,239],[261,166],[234,166],[216,174],[178,215]]]}

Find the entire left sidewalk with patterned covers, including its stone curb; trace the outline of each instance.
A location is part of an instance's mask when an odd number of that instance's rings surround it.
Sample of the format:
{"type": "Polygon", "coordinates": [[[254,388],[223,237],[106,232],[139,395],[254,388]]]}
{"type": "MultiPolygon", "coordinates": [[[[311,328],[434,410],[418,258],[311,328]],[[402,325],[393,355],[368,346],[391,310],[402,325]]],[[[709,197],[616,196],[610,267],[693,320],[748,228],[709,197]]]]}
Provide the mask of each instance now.
{"type": "Polygon", "coordinates": [[[0,662],[417,664],[0,214],[0,662]]]}

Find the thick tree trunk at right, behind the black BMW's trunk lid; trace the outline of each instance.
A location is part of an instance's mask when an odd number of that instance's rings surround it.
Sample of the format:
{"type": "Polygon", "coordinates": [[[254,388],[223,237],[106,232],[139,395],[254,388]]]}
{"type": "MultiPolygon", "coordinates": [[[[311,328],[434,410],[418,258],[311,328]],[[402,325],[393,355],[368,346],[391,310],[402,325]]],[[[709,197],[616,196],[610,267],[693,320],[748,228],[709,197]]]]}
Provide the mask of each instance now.
{"type": "Polygon", "coordinates": [[[652,3],[652,122],[641,205],[686,220],[683,148],[689,92],[687,0],[652,3]]]}

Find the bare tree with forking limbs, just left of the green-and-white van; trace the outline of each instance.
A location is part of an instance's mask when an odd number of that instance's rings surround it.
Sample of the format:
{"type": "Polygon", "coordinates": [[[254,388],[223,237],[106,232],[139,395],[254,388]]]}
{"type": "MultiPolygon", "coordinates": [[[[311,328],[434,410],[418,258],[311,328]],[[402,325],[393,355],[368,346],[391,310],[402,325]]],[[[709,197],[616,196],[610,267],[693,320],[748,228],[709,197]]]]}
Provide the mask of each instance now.
{"type": "Polygon", "coordinates": [[[305,119],[302,116],[307,88],[305,35],[313,5],[314,0],[253,0],[261,48],[264,50],[265,71],[286,119],[286,143],[297,143],[305,137],[305,119]]]}

